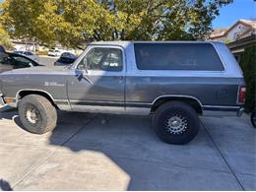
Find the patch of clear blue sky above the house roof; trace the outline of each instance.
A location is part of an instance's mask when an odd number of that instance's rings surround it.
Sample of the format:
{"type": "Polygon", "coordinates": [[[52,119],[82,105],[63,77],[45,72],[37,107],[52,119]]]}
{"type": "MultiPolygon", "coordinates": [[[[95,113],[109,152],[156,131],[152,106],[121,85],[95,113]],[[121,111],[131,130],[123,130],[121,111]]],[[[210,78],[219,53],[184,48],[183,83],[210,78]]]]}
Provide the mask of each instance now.
{"type": "Polygon", "coordinates": [[[256,20],[256,1],[233,0],[233,3],[221,8],[220,16],[213,22],[213,28],[228,28],[239,19],[256,20]]]}

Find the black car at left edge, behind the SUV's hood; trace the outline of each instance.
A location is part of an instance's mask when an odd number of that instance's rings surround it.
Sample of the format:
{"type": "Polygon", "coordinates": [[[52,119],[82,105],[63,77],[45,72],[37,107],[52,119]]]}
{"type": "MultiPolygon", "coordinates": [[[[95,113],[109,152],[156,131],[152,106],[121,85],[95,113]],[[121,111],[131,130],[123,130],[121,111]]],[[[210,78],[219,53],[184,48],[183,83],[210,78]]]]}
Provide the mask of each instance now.
{"type": "Polygon", "coordinates": [[[19,53],[0,52],[0,73],[13,69],[43,66],[19,53]]]}

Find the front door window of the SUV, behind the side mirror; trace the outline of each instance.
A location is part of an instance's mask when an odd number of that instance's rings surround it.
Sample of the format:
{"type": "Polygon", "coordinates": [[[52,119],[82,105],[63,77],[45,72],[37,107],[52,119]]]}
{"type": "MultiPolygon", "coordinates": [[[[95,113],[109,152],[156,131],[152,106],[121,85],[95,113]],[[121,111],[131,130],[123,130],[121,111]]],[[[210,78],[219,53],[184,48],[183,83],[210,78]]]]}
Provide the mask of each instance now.
{"type": "Polygon", "coordinates": [[[122,51],[118,48],[92,48],[82,60],[81,66],[86,65],[88,70],[95,71],[122,71],[122,51]]]}

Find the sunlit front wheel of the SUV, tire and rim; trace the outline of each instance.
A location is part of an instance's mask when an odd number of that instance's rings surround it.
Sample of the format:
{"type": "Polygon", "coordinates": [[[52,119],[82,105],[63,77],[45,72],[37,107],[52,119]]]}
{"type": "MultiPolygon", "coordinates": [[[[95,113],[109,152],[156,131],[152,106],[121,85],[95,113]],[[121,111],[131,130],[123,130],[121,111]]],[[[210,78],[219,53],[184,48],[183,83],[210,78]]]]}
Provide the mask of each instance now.
{"type": "Polygon", "coordinates": [[[18,110],[24,128],[31,133],[43,134],[56,127],[56,108],[44,96],[24,96],[19,101],[18,110]]]}

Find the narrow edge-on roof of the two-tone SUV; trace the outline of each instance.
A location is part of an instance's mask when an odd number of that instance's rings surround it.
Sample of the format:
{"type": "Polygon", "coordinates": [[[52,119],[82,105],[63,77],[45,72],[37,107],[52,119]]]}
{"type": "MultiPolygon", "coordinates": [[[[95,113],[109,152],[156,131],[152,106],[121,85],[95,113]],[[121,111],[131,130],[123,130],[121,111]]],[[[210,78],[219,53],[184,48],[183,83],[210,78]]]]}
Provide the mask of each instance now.
{"type": "Polygon", "coordinates": [[[219,41],[209,41],[209,40],[201,40],[201,41],[196,41],[196,40],[170,40],[170,41],[122,41],[122,40],[116,40],[116,41],[95,41],[89,43],[90,45],[118,45],[122,47],[127,47],[130,44],[133,43],[212,43],[212,44],[223,44],[223,42],[219,41]]]}

